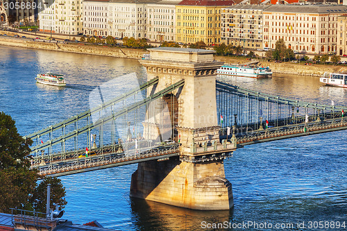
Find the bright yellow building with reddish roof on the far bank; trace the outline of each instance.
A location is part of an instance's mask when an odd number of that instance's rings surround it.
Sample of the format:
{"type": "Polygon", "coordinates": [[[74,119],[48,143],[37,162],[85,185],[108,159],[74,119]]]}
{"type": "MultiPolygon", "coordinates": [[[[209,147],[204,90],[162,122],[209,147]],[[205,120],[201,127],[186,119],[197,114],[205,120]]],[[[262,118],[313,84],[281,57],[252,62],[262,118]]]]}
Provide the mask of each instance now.
{"type": "Polygon", "coordinates": [[[207,45],[221,42],[221,9],[232,0],[183,0],[176,6],[176,42],[207,45]]]}

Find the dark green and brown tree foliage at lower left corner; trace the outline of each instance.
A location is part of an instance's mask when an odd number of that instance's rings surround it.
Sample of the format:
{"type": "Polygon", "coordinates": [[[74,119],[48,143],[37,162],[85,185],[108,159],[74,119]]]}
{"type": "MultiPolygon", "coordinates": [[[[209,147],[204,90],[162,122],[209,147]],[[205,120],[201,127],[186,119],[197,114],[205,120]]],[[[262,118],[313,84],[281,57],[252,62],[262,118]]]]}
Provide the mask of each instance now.
{"type": "MultiPolygon", "coordinates": [[[[34,200],[37,204],[44,203],[39,194],[35,194],[39,190],[36,188],[37,171],[29,169],[31,160],[28,154],[32,143],[31,139],[19,135],[15,121],[9,115],[0,112],[0,212],[10,212],[14,207],[33,209],[34,200]]],[[[66,205],[65,189],[60,180],[53,180],[53,183],[56,185],[52,190],[52,195],[56,195],[53,199],[66,205]]],[[[39,209],[42,207],[37,207],[36,211],[46,211],[39,209]]]]}

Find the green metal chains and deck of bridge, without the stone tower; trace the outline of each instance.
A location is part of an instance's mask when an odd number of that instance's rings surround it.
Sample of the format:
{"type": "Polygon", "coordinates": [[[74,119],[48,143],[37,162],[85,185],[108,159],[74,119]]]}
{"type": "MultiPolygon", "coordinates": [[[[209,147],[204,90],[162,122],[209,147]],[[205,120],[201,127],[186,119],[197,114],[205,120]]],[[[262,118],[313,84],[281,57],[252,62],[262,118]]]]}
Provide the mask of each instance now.
{"type": "MultiPolygon", "coordinates": [[[[146,98],[138,97],[156,84],[158,84],[158,78],[97,108],[26,136],[35,142],[31,147],[32,167],[39,169],[42,177],[64,176],[147,160],[167,160],[169,157],[179,155],[177,143],[153,145],[152,140],[146,139],[121,142],[115,134],[115,120],[121,118],[124,119],[123,129],[128,129],[128,132],[130,126],[127,123],[130,124],[129,121],[133,123],[134,136],[136,136],[135,127],[142,126],[138,114],[145,114],[149,103],[183,87],[184,80],[146,98]],[[124,103],[128,99],[132,99],[132,103],[124,103]],[[139,112],[140,108],[142,108],[141,112],[139,112]],[[103,116],[105,111],[109,113],[103,116]],[[131,113],[133,114],[130,116],[131,113]],[[99,119],[92,121],[92,116],[95,114],[99,116],[99,119]],[[108,123],[112,124],[112,131],[109,132],[111,135],[104,135],[106,132],[103,131],[103,126],[108,123]],[[93,147],[90,137],[92,132],[99,133],[99,144],[93,147]],[[42,139],[45,142],[40,142],[42,139]],[[108,143],[104,144],[105,141],[108,143]],[[90,148],[90,153],[85,154],[86,146],[90,148]],[[129,149],[129,147],[130,153],[125,153],[124,148],[129,149]],[[44,153],[46,149],[48,152],[44,153]]],[[[223,117],[223,122],[219,121],[220,139],[230,139],[233,135],[238,147],[347,129],[346,114],[342,113],[347,111],[346,107],[287,99],[244,89],[219,80],[216,82],[216,87],[217,113],[218,117],[223,117]]],[[[95,142],[94,139],[94,145],[95,142]]]]}

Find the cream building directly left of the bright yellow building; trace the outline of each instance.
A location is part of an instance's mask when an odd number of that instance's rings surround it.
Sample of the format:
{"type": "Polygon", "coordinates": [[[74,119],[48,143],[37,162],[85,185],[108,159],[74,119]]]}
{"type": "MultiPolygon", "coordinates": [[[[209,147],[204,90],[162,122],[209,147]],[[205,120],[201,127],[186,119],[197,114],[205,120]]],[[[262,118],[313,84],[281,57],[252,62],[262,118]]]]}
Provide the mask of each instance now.
{"type": "Polygon", "coordinates": [[[175,41],[176,5],[180,1],[163,0],[149,3],[147,11],[147,38],[151,41],[175,41]]]}

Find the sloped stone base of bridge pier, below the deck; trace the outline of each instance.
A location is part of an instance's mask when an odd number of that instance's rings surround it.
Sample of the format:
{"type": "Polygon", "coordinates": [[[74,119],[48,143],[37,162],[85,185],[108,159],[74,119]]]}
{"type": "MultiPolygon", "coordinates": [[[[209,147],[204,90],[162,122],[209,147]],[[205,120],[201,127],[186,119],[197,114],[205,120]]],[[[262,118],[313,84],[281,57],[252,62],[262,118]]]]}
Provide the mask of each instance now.
{"type": "Polygon", "coordinates": [[[139,163],[131,178],[130,196],[199,210],[234,205],[223,160],[194,164],[177,158],[139,163]]]}

